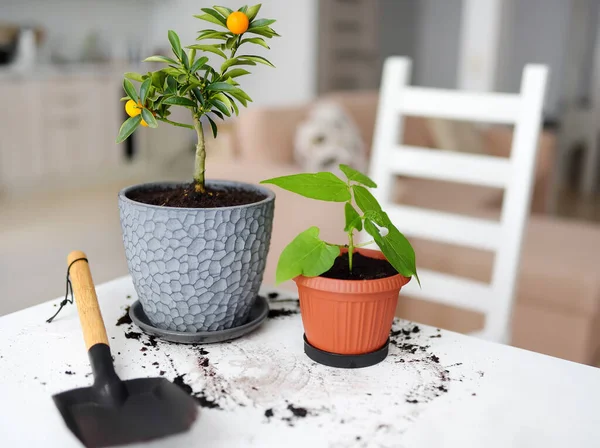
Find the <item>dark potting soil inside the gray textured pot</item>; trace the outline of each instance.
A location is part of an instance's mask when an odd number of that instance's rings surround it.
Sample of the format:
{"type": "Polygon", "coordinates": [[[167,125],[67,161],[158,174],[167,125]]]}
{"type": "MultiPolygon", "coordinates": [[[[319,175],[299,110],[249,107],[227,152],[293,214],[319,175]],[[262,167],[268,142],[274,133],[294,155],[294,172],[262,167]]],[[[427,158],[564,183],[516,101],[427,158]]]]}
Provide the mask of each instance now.
{"type": "Polygon", "coordinates": [[[241,188],[207,188],[205,193],[196,193],[194,184],[177,188],[152,188],[134,190],[127,197],[133,201],[162,207],[216,208],[253,204],[266,198],[257,191],[241,188]]]}

